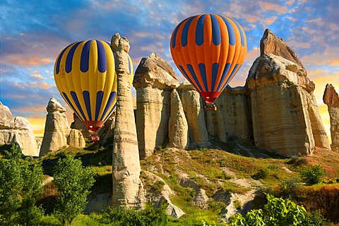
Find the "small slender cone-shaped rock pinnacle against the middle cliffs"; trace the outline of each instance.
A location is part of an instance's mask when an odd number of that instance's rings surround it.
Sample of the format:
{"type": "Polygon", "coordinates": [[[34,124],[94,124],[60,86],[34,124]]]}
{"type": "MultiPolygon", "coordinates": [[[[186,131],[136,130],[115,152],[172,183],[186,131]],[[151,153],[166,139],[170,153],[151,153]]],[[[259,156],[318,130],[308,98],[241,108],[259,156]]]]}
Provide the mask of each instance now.
{"type": "Polygon", "coordinates": [[[189,146],[189,125],[177,89],[171,93],[171,117],[168,123],[169,147],[186,149],[189,146]]]}

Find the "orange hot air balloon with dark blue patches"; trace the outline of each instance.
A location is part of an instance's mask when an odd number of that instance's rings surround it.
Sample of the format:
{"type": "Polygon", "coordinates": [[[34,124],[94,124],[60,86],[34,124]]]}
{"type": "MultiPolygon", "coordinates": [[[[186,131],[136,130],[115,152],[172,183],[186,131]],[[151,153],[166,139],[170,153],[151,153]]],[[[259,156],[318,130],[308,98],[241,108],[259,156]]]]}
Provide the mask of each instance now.
{"type": "Polygon", "coordinates": [[[170,49],[184,77],[213,105],[244,62],[246,34],[224,15],[194,15],[174,29],[170,49]]]}

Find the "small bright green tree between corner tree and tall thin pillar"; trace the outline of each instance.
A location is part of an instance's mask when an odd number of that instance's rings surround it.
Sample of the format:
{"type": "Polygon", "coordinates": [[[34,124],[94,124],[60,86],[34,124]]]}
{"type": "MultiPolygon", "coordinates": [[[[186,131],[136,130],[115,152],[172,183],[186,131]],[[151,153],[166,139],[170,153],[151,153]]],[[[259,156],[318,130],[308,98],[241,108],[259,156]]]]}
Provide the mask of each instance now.
{"type": "Polygon", "coordinates": [[[58,189],[54,215],[63,225],[69,224],[86,206],[95,173],[84,168],[81,161],[73,156],[59,159],[54,168],[54,184],[58,189]]]}

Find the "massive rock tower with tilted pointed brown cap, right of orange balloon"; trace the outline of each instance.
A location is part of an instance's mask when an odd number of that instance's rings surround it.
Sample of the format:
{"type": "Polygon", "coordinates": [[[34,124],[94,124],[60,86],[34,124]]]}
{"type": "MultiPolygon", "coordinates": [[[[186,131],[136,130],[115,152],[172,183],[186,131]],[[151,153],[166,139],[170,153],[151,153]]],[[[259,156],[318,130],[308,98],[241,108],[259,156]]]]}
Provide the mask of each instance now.
{"type": "Polygon", "coordinates": [[[329,148],[315,85],[292,49],[270,30],[261,39],[261,56],[246,86],[251,91],[256,146],[283,156],[311,154],[315,146],[329,148]]]}

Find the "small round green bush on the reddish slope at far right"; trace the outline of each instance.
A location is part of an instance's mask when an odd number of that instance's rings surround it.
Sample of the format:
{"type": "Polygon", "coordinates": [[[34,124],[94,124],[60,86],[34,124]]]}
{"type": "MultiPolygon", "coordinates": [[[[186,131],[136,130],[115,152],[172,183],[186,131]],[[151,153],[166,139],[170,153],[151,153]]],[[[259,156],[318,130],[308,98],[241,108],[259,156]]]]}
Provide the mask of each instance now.
{"type": "Polygon", "coordinates": [[[322,181],[322,177],[325,174],[323,172],[323,168],[321,165],[312,165],[312,166],[306,166],[300,170],[300,175],[302,177],[302,182],[304,182],[306,185],[314,185],[319,184],[322,181]]]}

